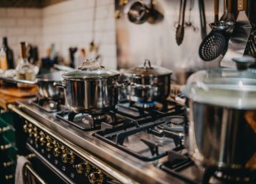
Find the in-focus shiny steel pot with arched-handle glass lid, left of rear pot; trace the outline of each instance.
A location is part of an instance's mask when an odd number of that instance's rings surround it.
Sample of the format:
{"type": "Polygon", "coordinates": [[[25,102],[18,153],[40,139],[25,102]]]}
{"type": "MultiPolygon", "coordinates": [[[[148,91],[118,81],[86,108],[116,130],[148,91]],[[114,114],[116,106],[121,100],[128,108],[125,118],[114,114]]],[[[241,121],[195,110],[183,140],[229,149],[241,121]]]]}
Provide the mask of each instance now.
{"type": "Polygon", "coordinates": [[[102,113],[114,108],[118,101],[119,72],[107,70],[93,59],[87,59],[76,71],[64,73],[67,107],[75,112],[102,113]]]}

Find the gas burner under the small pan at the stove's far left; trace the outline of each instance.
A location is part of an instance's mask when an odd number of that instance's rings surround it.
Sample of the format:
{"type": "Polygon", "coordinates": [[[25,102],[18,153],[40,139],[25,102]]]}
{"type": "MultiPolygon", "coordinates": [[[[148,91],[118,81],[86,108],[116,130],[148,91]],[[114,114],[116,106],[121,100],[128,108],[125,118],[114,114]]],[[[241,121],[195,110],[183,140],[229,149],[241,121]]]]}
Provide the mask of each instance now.
{"type": "Polygon", "coordinates": [[[39,107],[41,110],[46,111],[47,113],[55,113],[60,111],[62,106],[64,106],[64,99],[54,99],[48,100],[46,98],[39,98],[36,101],[31,102],[34,106],[39,107]]]}

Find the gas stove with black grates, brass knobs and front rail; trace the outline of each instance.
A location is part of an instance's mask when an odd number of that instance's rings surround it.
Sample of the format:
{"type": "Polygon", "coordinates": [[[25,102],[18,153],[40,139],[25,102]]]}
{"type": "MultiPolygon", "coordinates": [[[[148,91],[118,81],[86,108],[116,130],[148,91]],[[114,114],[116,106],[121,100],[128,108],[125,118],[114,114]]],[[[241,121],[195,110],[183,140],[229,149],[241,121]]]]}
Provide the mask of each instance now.
{"type": "Polygon", "coordinates": [[[121,101],[97,116],[47,112],[31,101],[9,108],[26,120],[28,148],[67,183],[234,183],[189,159],[182,106],[140,105],[121,101]]]}

